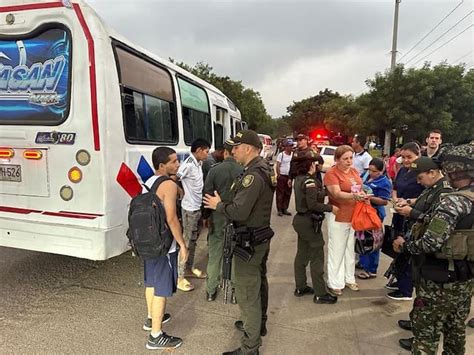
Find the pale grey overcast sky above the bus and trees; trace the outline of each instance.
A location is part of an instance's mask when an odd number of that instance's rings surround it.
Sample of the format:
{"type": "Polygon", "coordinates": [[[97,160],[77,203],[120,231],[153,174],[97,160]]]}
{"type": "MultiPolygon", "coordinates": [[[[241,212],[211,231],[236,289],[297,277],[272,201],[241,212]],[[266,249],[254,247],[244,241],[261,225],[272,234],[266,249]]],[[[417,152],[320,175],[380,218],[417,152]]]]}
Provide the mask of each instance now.
{"type": "MultiPolygon", "coordinates": [[[[89,0],[104,20],[162,58],[210,64],[260,92],[279,117],[326,87],[358,95],[390,66],[395,0],[89,0]]],[[[461,0],[402,0],[398,58],[461,0]]],[[[401,62],[474,65],[473,1],[465,0],[401,62]],[[470,15],[428,47],[464,16],[470,15]],[[417,56],[418,55],[418,56],[417,56]],[[463,58],[461,58],[463,57],[463,58]]],[[[398,61],[398,60],[397,60],[398,61]]]]}

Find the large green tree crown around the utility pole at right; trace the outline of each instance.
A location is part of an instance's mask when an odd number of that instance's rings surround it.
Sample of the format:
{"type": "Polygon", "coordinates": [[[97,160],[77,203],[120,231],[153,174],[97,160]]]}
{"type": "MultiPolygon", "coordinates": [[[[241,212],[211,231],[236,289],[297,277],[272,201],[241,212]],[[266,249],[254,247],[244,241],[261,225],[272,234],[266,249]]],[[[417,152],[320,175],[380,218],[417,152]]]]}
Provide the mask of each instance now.
{"type": "Polygon", "coordinates": [[[464,72],[463,66],[441,63],[378,73],[366,81],[370,91],[357,98],[357,124],[373,132],[392,128],[407,140],[423,140],[434,128],[444,132],[445,141],[472,136],[473,76],[464,72]]]}

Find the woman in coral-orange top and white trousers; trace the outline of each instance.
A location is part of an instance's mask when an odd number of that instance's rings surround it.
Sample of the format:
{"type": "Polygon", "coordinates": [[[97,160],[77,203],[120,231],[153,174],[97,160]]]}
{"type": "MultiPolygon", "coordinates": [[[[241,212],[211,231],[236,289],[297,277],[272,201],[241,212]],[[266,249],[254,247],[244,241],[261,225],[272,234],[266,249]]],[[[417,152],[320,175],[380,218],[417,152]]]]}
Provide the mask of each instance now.
{"type": "Polygon", "coordinates": [[[329,213],[328,220],[328,288],[335,295],[341,295],[344,287],[358,291],[355,282],[354,230],[351,226],[356,200],[363,199],[362,180],[352,167],[354,151],[348,145],[341,145],[334,153],[336,164],[324,177],[329,203],[337,206],[336,215],[329,213]]]}

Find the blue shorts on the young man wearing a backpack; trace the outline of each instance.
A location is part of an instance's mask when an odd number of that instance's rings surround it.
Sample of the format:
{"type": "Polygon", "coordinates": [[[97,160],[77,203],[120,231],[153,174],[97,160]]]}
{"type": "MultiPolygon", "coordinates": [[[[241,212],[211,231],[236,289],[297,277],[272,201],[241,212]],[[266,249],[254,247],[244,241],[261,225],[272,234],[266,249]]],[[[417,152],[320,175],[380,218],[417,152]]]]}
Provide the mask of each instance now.
{"type": "Polygon", "coordinates": [[[145,260],[145,287],[153,287],[155,296],[171,297],[178,281],[178,252],[145,260]]]}

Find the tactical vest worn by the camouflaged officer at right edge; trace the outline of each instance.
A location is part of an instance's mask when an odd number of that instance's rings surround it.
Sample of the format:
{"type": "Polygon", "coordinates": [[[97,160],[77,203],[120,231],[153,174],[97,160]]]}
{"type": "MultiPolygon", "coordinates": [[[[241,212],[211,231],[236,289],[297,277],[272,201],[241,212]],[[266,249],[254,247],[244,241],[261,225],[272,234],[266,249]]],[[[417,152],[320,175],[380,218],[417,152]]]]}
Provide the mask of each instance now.
{"type": "MultiPolygon", "coordinates": [[[[474,191],[472,190],[461,190],[446,195],[464,196],[474,203],[474,191]]],[[[451,271],[454,270],[453,260],[474,262],[473,224],[474,210],[471,207],[471,212],[456,224],[456,229],[450,234],[448,240],[441,248],[441,251],[435,253],[437,259],[449,261],[449,270],[451,271]]]]}

